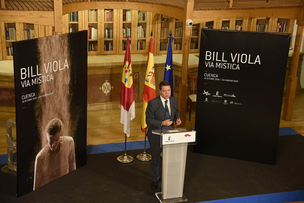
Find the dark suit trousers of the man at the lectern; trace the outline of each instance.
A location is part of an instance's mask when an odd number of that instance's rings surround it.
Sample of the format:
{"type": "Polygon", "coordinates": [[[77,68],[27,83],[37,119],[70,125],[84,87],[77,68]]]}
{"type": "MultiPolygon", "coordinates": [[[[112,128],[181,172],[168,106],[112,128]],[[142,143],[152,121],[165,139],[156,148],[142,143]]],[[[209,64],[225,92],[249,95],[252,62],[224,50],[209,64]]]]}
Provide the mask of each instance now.
{"type": "Polygon", "coordinates": [[[155,144],[150,143],[151,149],[151,178],[152,181],[157,182],[159,180],[159,160],[161,158],[161,152],[163,148],[161,148],[161,143],[155,144]]]}

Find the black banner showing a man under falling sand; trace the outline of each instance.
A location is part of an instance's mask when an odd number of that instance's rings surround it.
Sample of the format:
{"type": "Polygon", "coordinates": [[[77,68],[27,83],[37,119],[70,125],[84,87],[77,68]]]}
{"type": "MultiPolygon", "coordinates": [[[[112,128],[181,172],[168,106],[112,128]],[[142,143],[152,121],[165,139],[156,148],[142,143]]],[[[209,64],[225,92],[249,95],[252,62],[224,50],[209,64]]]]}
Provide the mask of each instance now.
{"type": "Polygon", "coordinates": [[[13,42],[18,197],[86,163],[87,38],[13,42]]]}

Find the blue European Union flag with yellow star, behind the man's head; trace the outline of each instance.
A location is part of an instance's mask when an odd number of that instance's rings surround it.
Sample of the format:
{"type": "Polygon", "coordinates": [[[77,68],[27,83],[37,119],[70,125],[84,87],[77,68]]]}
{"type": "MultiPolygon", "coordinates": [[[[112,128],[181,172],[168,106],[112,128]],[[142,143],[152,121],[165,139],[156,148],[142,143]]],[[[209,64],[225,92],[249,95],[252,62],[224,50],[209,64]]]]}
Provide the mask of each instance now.
{"type": "Polygon", "coordinates": [[[164,73],[164,80],[168,81],[171,85],[171,96],[173,96],[173,65],[172,65],[172,46],[171,42],[174,40],[173,37],[169,38],[169,45],[168,45],[168,52],[167,52],[167,59],[165,65],[165,73],[164,73]]]}

